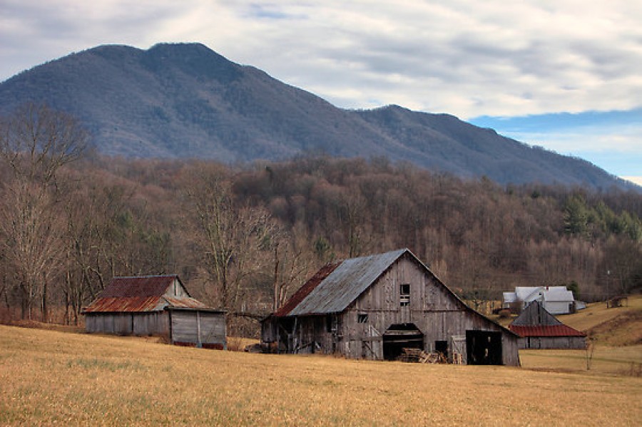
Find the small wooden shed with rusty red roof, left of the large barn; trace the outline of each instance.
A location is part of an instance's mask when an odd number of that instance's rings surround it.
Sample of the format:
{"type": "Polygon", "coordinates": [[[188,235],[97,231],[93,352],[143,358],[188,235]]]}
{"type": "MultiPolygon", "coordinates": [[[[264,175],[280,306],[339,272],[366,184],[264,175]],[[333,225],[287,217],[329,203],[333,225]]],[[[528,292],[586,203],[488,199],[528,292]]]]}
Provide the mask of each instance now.
{"type": "Polygon", "coordinates": [[[114,277],[83,314],[88,332],[159,335],[176,345],[227,348],[225,311],[190,297],[177,275],[114,277]]]}

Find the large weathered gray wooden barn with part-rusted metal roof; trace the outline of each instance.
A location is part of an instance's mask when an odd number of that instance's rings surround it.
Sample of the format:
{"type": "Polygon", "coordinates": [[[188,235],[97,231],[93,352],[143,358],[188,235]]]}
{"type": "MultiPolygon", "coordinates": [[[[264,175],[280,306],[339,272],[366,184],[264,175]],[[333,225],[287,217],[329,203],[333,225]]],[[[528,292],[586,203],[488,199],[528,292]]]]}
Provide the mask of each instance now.
{"type": "Polygon", "coordinates": [[[518,339],[464,304],[409,249],[327,264],[261,327],[271,351],[376,360],[421,349],[519,366],[518,339]]]}

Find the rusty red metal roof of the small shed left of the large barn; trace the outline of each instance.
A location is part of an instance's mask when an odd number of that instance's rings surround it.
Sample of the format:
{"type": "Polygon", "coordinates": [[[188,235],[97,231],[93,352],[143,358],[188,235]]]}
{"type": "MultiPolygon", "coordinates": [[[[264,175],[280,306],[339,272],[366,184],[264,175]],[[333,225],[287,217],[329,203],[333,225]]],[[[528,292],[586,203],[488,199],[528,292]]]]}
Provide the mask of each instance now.
{"type": "Polygon", "coordinates": [[[160,312],[165,308],[208,309],[189,296],[177,275],[114,277],[83,313],[160,312]],[[178,280],[187,297],[175,297],[170,286],[178,280]]]}

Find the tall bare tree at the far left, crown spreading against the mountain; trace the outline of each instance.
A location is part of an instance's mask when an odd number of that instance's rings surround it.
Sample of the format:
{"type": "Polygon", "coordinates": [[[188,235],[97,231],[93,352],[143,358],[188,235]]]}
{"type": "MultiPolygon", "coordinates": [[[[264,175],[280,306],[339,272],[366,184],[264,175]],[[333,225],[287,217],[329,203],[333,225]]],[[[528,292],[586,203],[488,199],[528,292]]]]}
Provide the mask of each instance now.
{"type": "Polygon", "coordinates": [[[1,245],[22,299],[23,317],[32,317],[36,297],[46,320],[48,284],[60,272],[64,222],[56,173],[78,159],[88,135],[66,113],[26,104],[0,120],[0,160],[9,177],[0,190],[1,245]]]}

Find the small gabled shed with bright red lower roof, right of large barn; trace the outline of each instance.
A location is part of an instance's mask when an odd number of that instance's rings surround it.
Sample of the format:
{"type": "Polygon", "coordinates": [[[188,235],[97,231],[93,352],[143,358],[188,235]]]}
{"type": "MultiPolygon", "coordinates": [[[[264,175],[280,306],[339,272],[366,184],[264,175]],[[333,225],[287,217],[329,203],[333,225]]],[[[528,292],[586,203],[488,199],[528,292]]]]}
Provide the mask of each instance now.
{"type": "Polygon", "coordinates": [[[521,337],[520,349],[586,349],[586,334],[563,324],[538,301],[531,302],[509,329],[521,337]]]}

